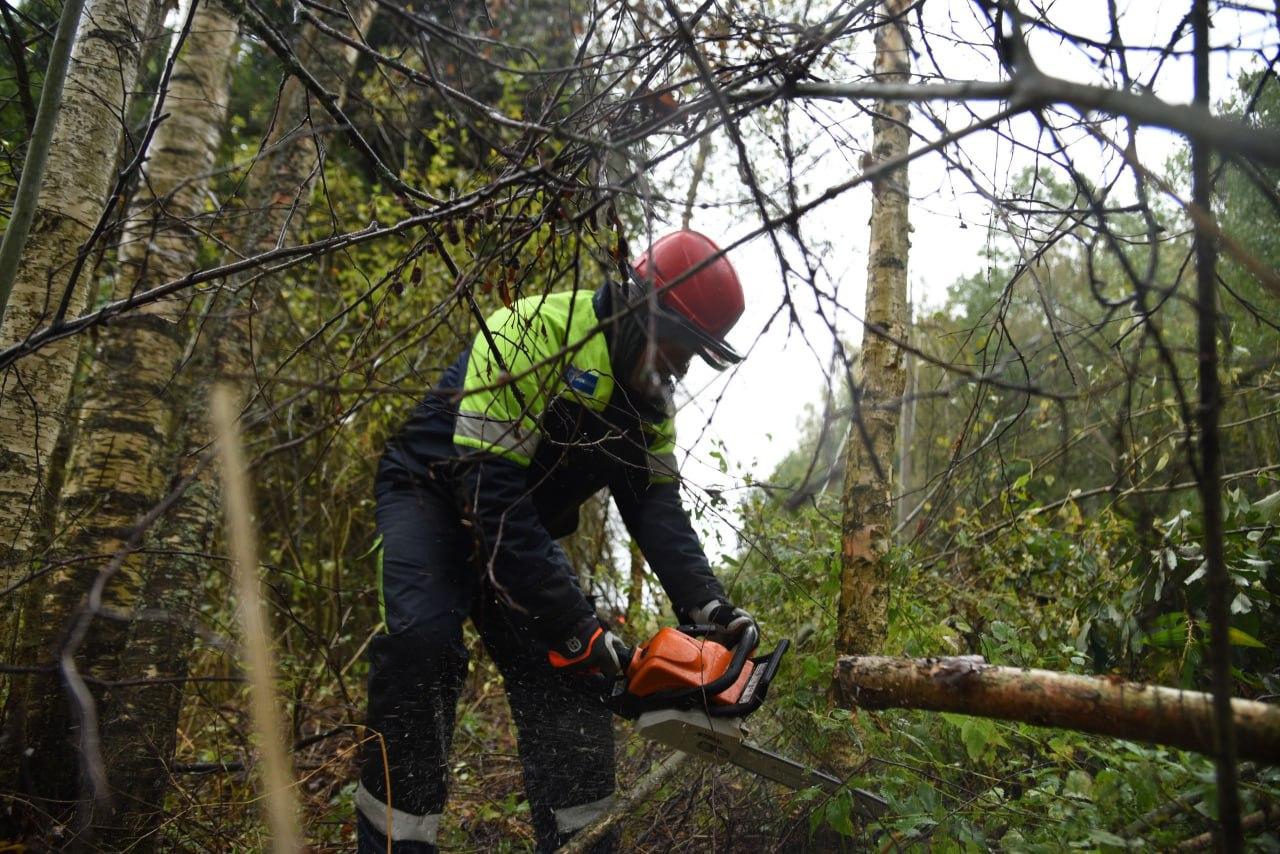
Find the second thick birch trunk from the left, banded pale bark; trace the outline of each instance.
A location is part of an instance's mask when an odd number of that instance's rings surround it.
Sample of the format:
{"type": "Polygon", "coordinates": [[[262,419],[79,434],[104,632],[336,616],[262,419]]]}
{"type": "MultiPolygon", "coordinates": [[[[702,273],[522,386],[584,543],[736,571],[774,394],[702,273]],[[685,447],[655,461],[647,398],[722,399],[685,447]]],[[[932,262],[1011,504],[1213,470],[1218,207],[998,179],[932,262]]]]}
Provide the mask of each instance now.
{"type": "MultiPolygon", "coordinates": [[[[119,250],[116,298],[179,278],[197,265],[202,242],[197,220],[225,123],[236,44],[237,23],[221,3],[198,3],[165,97],[169,118],[156,131],[145,179],[131,205],[119,250]]],[[[101,557],[72,562],[52,576],[42,595],[40,624],[24,631],[24,641],[33,648],[23,656],[27,661],[55,657],[63,627],[95,575],[169,488],[182,419],[174,373],[186,346],[186,314],[184,301],[161,301],[100,330],[61,501],[59,528],[67,538],[59,552],[101,557]]],[[[140,599],[143,561],[134,553],[123,562],[106,588],[105,607],[123,615],[138,607],[178,606],[140,599]]],[[[198,589],[195,577],[174,581],[187,597],[198,589]]],[[[131,629],[122,620],[97,621],[78,650],[81,671],[115,679],[116,658],[131,629]]],[[[143,645],[146,661],[163,654],[160,644],[143,645]]],[[[74,795],[76,775],[69,769],[77,767],[77,736],[56,679],[33,681],[24,721],[28,778],[35,794],[64,799],[74,795]]],[[[131,805],[152,803],[140,795],[164,780],[163,767],[173,750],[172,725],[168,732],[164,725],[151,727],[148,709],[133,708],[145,694],[140,686],[119,689],[115,713],[101,718],[104,732],[110,734],[105,739],[109,780],[127,781],[115,821],[131,826],[136,823],[131,805]]]]}

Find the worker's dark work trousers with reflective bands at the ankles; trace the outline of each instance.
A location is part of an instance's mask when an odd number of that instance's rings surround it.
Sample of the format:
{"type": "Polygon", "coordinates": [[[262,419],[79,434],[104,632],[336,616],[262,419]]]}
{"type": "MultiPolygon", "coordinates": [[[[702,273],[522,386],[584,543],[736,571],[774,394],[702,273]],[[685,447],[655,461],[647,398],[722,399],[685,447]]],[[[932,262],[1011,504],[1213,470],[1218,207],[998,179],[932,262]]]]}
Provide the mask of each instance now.
{"type": "Polygon", "coordinates": [[[360,854],[385,854],[388,830],[394,854],[436,850],[468,616],[507,689],[538,848],[553,850],[612,807],[609,712],[557,673],[522,616],[498,600],[445,493],[380,481],[376,497],[387,629],[370,644],[360,854]]]}

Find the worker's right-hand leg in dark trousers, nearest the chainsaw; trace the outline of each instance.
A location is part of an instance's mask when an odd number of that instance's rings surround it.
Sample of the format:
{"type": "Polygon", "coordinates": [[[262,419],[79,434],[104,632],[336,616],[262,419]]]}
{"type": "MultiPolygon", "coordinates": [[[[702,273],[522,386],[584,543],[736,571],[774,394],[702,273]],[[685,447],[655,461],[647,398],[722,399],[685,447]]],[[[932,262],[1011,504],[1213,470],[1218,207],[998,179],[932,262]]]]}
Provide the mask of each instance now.
{"type": "MultiPolygon", "coordinates": [[[[613,721],[547,661],[527,621],[492,595],[474,608],[485,649],[502,672],[516,721],[538,849],[550,851],[613,805],[613,721]]],[[[614,834],[593,851],[612,851],[614,834]]]]}

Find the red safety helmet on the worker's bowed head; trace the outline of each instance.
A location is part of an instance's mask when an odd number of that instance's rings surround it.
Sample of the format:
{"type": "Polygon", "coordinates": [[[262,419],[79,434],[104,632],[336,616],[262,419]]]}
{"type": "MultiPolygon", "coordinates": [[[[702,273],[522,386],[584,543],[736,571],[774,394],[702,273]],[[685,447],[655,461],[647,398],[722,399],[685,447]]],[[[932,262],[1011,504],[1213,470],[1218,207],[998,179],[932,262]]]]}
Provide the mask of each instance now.
{"type": "Polygon", "coordinates": [[[662,326],[677,329],[708,365],[723,370],[742,361],[724,341],[746,309],[742,284],[709,237],[690,230],[659,237],[635,261],[632,273],[658,292],[662,326]]]}

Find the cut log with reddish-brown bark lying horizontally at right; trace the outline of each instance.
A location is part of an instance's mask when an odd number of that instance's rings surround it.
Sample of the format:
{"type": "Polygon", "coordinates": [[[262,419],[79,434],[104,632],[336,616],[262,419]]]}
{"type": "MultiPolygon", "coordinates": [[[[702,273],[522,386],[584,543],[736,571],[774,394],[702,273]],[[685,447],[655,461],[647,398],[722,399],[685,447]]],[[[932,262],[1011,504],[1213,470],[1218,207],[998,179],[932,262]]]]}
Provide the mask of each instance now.
{"type": "MultiPolygon", "coordinates": [[[[836,693],[855,708],[959,712],[1213,754],[1213,698],[1201,691],[988,665],[980,656],[836,662],[836,693]]],[[[1280,763],[1280,707],[1231,700],[1242,759],[1280,763]]]]}

